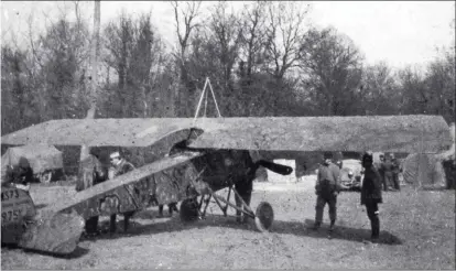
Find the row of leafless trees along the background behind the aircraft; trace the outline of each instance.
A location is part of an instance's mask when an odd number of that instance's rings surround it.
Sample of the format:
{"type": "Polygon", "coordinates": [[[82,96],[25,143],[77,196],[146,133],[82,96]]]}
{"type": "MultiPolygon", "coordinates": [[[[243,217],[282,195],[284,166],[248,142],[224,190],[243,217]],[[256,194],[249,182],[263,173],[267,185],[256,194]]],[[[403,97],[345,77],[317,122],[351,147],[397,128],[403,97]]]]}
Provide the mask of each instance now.
{"type": "MultiPolygon", "coordinates": [[[[425,67],[392,71],[366,65],[337,30],[310,26],[302,2],[258,1],[234,13],[221,1],[208,15],[200,2],[170,4],[175,50],[150,13],[123,12],[102,25],[97,118],[191,117],[209,77],[226,117],[432,113],[454,121],[454,45],[425,67]]],[[[37,35],[30,21],[26,48],[2,45],[3,134],[86,117],[91,22],[79,6],[76,20],[63,13],[37,35]]]]}

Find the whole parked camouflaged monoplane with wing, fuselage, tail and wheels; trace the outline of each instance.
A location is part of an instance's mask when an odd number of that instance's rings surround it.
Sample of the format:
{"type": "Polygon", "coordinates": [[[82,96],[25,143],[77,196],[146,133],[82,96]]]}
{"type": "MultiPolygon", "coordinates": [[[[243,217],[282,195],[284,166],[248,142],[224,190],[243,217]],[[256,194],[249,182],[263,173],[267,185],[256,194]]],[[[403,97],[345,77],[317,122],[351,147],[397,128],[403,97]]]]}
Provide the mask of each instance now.
{"type": "Polygon", "coordinates": [[[253,218],[259,230],[270,230],[274,216],[270,204],[263,202],[253,212],[246,203],[232,204],[230,195],[239,193],[237,185],[252,182],[258,166],[281,174],[292,170],[253,162],[249,151],[436,153],[449,148],[450,136],[439,116],[62,119],[3,136],[1,141],[8,145],[169,147],[169,155],[161,160],[56,202],[42,209],[40,217],[33,216],[26,193],[2,187],[2,238],[14,228],[13,241],[22,248],[70,253],[85,219],[172,202],[182,202],[181,217],[192,220],[205,215],[211,197],[225,215],[231,206],[253,218]],[[217,194],[226,187],[227,198],[217,194]]]}

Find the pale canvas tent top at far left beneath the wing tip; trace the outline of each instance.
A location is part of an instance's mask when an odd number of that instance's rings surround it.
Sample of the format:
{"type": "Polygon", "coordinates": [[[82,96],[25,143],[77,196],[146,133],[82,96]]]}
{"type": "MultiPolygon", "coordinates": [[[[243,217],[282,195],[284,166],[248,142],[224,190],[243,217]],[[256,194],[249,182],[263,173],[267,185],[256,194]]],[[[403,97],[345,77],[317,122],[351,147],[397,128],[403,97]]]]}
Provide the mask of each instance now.
{"type": "Polygon", "coordinates": [[[33,144],[9,148],[1,156],[2,172],[7,165],[18,165],[26,159],[34,174],[63,169],[63,155],[53,145],[33,144]]]}

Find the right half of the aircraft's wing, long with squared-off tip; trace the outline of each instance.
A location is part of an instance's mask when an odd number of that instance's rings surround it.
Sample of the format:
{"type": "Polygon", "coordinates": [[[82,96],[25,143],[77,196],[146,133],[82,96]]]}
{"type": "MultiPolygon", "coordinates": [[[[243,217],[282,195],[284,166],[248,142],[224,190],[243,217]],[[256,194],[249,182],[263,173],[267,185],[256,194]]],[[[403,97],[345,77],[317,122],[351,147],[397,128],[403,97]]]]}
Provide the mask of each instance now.
{"type": "Polygon", "coordinates": [[[198,119],[192,148],[262,151],[435,153],[450,144],[441,116],[198,119]]]}

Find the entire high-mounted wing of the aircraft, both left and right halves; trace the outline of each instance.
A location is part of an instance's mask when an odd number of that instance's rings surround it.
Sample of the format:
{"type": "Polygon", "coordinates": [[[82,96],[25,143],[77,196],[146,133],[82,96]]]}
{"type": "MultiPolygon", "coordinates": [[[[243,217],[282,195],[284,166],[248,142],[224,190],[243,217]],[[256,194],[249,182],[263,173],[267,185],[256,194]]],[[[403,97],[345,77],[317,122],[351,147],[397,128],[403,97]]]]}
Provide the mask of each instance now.
{"type": "Polygon", "coordinates": [[[2,144],[148,147],[204,132],[191,148],[263,151],[436,153],[450,144],[441,116],[155,118],[52,120],[2,137],[2,144]]]}

